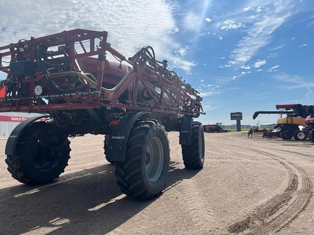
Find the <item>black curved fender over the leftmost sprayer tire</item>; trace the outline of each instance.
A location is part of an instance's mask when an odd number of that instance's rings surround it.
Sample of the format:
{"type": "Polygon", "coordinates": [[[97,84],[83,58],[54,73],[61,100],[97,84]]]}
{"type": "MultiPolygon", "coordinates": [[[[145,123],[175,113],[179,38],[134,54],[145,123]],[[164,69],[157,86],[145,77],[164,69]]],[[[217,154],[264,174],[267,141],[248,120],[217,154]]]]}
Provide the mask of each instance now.
{"type": "Polygon", "coordinates": [[[40,119],[40,118],[49,118],[50,116],[45,115],[39,115],[31,118],[27,118],[26,120],[22,121],[17,127],[15,127],[9,136],[8,140],[6,141],[5,145],[5,154],[6,155],[13,155],[15,153],[16,144],[19,140],[19,137],[21,136],[21,133],[23,130],[32,122],[40,119]]]}

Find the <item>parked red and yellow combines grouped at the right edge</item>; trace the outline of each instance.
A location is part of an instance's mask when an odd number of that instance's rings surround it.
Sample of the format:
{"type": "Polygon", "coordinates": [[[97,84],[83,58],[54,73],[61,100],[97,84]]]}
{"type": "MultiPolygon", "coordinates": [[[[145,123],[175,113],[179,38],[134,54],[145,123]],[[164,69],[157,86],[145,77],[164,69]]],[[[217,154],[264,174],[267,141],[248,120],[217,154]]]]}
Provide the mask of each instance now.
{"type": "Polygon", "coordinates": [[[278,137],[296,141],[305,141],[309,138],[314,142],[314,105],[277,104],[276,111],[257,111],[253,119],[259,114],[279,114],[277,125],[273,130],[264,130],[263,137],[278,137]],[[287,115],[283,117],[283,115],[287,115]]]}

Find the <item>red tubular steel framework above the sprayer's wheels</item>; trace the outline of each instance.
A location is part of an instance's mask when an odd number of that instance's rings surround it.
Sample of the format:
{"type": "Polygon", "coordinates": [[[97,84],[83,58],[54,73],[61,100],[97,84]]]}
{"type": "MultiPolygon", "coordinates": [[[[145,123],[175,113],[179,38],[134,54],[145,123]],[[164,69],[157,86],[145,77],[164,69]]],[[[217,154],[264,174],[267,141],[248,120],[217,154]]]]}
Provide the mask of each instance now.
{"type": "MultiPolygon", "coordinates": [[[[16,61],[15,51],[18,48],[30,45],[30,52],[25,56],[30,59],[32,66],[35,65],[35,45],[41,43],[45,47],[62,47],[66,49],[68,59],[76,70],[80,70],[78,65],[78,58],[87,56],[100,56],[104,57],[107,52],[111,53],[119,60],[124,61],[126,57],[113,49],[109,43],[107,43],[107,32],[92,31],[84,29],[74,29],[70,31],[63,31],[61,33],[52,34],[40,38],[31,38],[28,41],[19,41],[15,44],[0,47],[0,71],[8,73],[7,78],[10,77],[10,67],[4,66],[2,58],[5,56],[11,56],[11,62],[16,61]],[[95,40],[99,39],[99,45],[95,48],[95,40]],[[83,45],[83,41],[89,41],[90,50],[87,51],[83,45]],[[76,53],[75,44],[79,44],[83,52],[76,53]]],[[[53,52],[53,56],[61,56],[62,52],[59,50],[53,52]]],[[[49,55],[48,55],[49,56],[49,55]]],[[[64,57],[66,58],[66,57],[64,57]]],[[[198,95],[198,92],[191,88],[189,84],[184,82],[171,80],[168,74],[162,72],[156,72],[150,69],[145,60],[145,54],[142,50],[137,52],[132,59],[137,60],[137,63],[133,63],[133,71],[131,76],[120,84],[120,88],[113,92],[103,91],[102,83],[104,79],[105,61],[99,60],[98,77],[97,77],[97,92],[91,93],[79,92],[73,94],[48,94],[42,96],[34,95],[35,84],[42,79],[45,74],[30,75],[24,77],[24,80],[18,82],[29,83],[29,97],[24,100],[21,97],[15,97],[13,95],[10,98],[0,98],[0,112],[7,111],[21,111],[21,112],[39,112],[44,113],[50,110],[67,110],[67,109],[86,109],[86,108],[99,108],[99,107],[117,107],[125,108],[127,110],[145,110],[151,112],[181,114],[187,116],[198,117],[203,113],[201,106],[202,98],[198,95]],[[27,79],[26,79],[27,78],[27,79]],[[152,81],[154,83],[152,83],[152,81]],[[136,102],[137,90],[139,82],[147,89],[149,94],[153,97],[154,104],[139,103],[136,102]],[[133,83],[133,89],[130,90],[133,83]],[[155,83],[158,83],[160,88],[160,94],[154,89],[155,83]],[[129,103],[120,104],[117,99],[126,90],[129,93],[129,103]],[[51,104],[41,104],[39,102],[42,98],[49,98],[52,100],[51,104]],[[167,97],[167,98],[165,98],[167,97]],[[65,103],[57,103],[57,99],[63,99],[65,103]],[[37,100],[37,104],[34,105],[33,101],[37,100]]],[[[86,83],[84,79],[81,79],[83,83],[86,83]]],[[[22,89],[22,86],[17,86],[22,89]]],[[[22,90],[17,88],[14,94],[22,93],[22,90]],[[16,93],[17,92],[17,93],[16,93]]]]}

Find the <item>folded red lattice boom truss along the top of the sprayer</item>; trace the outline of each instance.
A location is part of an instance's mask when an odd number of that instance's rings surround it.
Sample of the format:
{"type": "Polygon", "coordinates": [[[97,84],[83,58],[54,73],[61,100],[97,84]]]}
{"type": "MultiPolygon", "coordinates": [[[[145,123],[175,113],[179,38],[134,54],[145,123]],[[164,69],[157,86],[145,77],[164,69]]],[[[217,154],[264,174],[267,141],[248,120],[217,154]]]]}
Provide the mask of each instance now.
{"type": "MultiPolygon", "coordinates": [[[[31,38],[27,41],[0,47],[0,71],[7,73],[7,78],[0,81],[0,112],[21,111],[45,113],[51,110],[88,109],[99,107],[117,107],[126,110],[147,110],[151,112],[181,114],[198,117],[203,113],[202,98],[189,84],[182,81],[174,71],[167,69],[167,62],[155,59],[151,47],[144,47],[133,57],[126,57],[113,49],[107,40],[107,32],[75,29],[63,31],[40,38],[31,38]],[[46,50],[38,59],[40,48],[46,50]],[[131,64],[133,70],[128,72],[112,89],[102,86],[105,82],[106,53],[111,53],[117,60],[131,64]],[[21,58],[21,56],[23,58],[21,58]],[[79,63],[80,58],[98,56],[97,77],[84,73],[79,63]],[[10,72],[13,62],[24,60],[30,63],[31,73],[14,76],[10,72]],[[50,59],[50,60],[49,60],[50,59]],[[10,60],[10,61],[7,61],[10,60]],[[41,73],[36,69],[42,61],[54,61],[71,65],[69,70],[48,71],[41,73]],[[9,65],[8,65],[9,64],[9,65]],[[34,88],[42,84],[42,79],[62,80],[67,77],[76,77],[83,90],[56,93],[51,90],[36,95],[34,88]],[[12,82],[14,88],[9,86],[12,82]],[[143,85],[153,103],[137,101],[139,84],[143,85]],[[156,90],[158,86],[158,90],[156,90]],[[118,102],[118,98],[128,91],[126,102],[118,102]],[[47,99],[49,102],[43,102],[47,99]]],[[[49,62],[49,63],[52,63],[49,62]]],[[[48,63],[48,62],[47,62],[48,63]]],[[[11,69],[12,70],[12,69],[11,69]]],[[[66,80],[66,79],[65,79],[66,80]]],[[[70,90],[68,90],[70,91],[70,90]]]]}

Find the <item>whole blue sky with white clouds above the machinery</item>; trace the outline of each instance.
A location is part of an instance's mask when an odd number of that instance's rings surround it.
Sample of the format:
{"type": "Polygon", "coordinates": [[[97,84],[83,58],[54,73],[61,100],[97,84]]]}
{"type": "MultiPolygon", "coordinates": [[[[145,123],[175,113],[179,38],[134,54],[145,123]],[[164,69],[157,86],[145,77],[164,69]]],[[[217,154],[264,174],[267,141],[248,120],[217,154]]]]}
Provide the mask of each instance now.
{"type": "Polygon", "coordinates": [[[16,0],[0,2],[0,45],[73,28],[108,31],[127,57],[151,45],[201,92],[203,123],[230,124],[240,111],[254,124],[256,110],[313,104],[313,0],[41,2],[19,1],[19,11],[16,0]]]}

